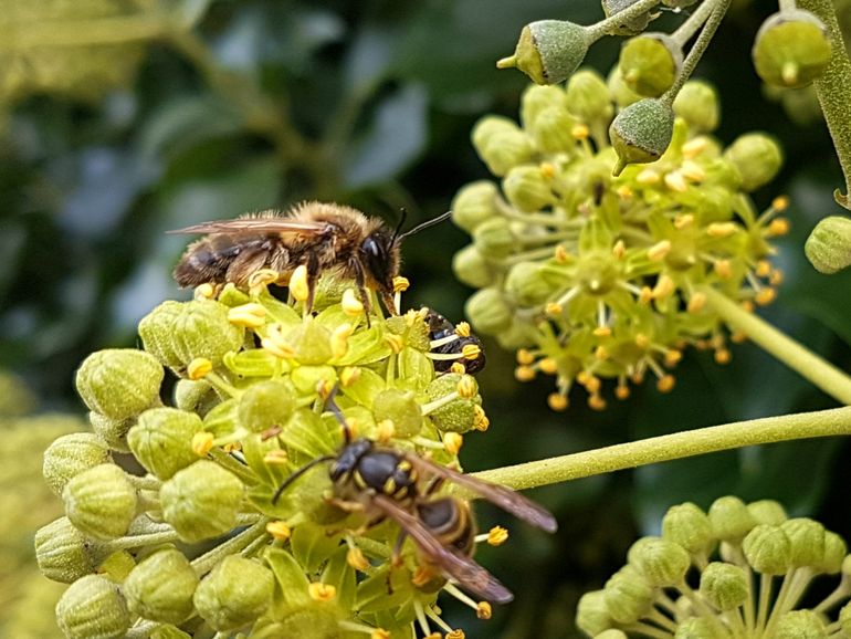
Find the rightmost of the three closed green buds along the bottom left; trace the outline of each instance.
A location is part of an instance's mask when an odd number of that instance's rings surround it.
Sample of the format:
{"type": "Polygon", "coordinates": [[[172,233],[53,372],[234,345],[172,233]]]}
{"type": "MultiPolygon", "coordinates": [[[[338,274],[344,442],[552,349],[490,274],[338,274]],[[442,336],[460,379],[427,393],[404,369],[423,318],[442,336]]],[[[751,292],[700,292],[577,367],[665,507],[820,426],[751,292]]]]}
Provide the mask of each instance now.
{"type": "Polygon", "coordinates": [[[195,591],[195,607],[214,630],[225,632],[256,620],[272,603],[272,572],[239,555],[224,557],[195,591]]]}

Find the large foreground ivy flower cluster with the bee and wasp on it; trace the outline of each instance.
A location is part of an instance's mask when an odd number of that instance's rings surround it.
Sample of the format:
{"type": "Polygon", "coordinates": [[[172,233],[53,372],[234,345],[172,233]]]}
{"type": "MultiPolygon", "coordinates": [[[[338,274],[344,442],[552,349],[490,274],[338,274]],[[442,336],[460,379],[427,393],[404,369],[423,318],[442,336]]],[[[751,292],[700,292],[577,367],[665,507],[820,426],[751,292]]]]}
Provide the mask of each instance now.
{"type": "MultiPolygon", "coordinates": [[[[144,349],[83,362],[76,386],[93,432],[46,450],[65,516],[35,535],[42,573],[70,584],[56,606],[70,639],[386,639],[414,628],[461,639],[440,616],[442,591],[490,616],[420,565],[410,542],[395,553],[395,522],[329,501],[324,465],[273,499],[296,469],[339,449],[332,394],[358,436],[458,464],[463,433],[487,418],[463,366],[437,375],[434,362],[473,360],[475,347],[453,353],[451,335],[435,344],[424,310],[382,317],[376,301],[367,322],[355,290],[328,277],[307,313],[304,269],[290,303],[270,294],[276,277],[255,273],[249,292],[200,286],[141,321],[144,349]],[[144,474],[118,465],[123,453],[144,474]]],[[[504,531],[485,538],[501,543],[504,531]]]]}

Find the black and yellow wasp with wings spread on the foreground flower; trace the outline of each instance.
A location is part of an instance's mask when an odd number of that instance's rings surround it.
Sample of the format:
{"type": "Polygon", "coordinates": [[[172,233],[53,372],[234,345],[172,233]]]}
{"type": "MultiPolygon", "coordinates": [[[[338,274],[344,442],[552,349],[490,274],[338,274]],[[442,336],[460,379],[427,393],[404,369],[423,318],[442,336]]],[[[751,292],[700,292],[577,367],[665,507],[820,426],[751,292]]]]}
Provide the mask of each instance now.
{"type": "Polygon", "coordinates": [[[309,469],[330,462],[335,502],[348,510],[363,510],[377,523],[385,517],[402,530],[417,545],[421,559],[443,575],[487,601],[507,604],[514,598],[485,568],[472,558],[475,547],[475,517],[466,501],[434,492],[445,482],[472,490],[516,517],[546,532],[556,531],[555,517],[522,494],[492,484],[416,454],[377,444],[366,438],[351,439],[343,413],[328,401],[344,428],[344,444],[336,454],[316,458],[290,475],[277,489],[272,503],[309,469]]]}

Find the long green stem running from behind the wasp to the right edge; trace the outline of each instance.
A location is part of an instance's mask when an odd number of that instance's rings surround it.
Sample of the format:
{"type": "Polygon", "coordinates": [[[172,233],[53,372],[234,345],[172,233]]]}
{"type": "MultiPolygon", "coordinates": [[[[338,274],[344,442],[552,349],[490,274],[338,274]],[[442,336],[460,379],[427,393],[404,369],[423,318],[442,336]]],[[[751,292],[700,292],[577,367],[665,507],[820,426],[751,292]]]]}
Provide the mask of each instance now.
{"type": "MultiPolygon", "coordinates": [[[[851,434],[849,407],[686,430],[487,470],[473,476],[523,490],[746,446],[840,434],[851,434]]],[[[465,491],[458,492],[473,496],[465,491]]]]}

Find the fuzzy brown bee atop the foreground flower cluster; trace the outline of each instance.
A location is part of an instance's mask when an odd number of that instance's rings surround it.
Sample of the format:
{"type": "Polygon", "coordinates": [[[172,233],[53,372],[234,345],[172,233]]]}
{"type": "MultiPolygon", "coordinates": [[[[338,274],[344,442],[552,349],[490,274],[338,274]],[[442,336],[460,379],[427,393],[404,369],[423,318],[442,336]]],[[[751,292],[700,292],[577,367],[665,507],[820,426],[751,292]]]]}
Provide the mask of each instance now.
{"type": "Polygon", "coordinates": [[[172,233],[204,233],[192,242],[175,268],[182,287],[199,284],[248,284],[252,273],[271,269],[287,282],[302,264],[307,269],[307,308],[313,307],[316,281],[326,271],[355,280],[369,311],[367,289],[377,291],[387,310],[393,304],[393,277],[399,274],[400,247],[412,235],[445,220],[444,213],[401,233],[405,211],[396,229],[350,207],[302,202],[288,211],[269,210],[235,220],[203,222],[172,233]]]}

